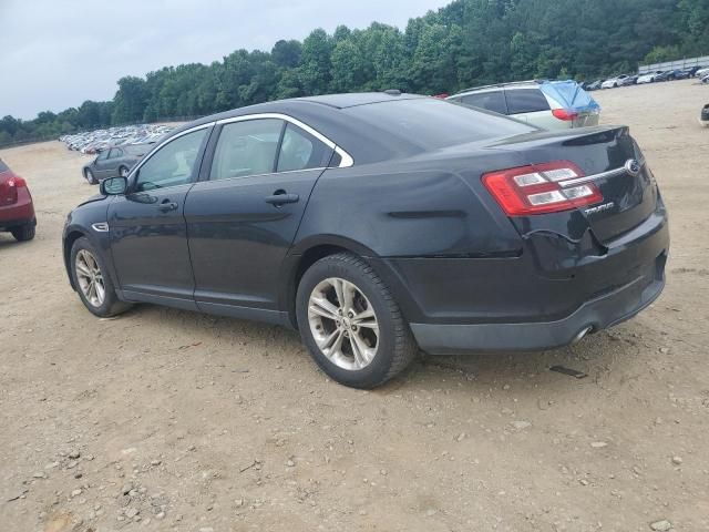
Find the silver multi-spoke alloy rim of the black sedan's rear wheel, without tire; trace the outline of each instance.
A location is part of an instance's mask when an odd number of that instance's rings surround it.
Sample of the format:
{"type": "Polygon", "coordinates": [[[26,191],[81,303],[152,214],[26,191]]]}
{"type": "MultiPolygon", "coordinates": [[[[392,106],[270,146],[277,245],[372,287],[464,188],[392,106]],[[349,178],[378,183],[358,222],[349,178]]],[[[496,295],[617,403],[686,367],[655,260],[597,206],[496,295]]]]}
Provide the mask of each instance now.
{"type": "Polygon", "coordinates": [[[336,366],[360,370],[379,346],[379,321],[367,296],[351,282],[320,282],[308,301],[310,332],[320,351],[336,366]]]}

